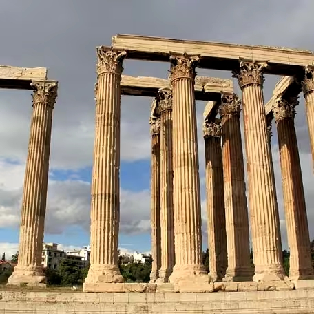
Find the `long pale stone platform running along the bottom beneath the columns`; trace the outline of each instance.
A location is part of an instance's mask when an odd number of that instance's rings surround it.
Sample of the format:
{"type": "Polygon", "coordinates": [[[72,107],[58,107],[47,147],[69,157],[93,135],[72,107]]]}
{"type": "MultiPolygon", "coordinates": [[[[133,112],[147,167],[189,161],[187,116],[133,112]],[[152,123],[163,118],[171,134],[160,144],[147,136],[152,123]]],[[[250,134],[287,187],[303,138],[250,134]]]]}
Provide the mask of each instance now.
{"type": "Polygon", "coordinates": [[[314,290],[224,293],[1,291],[0,313],[313,313],[314,290]]]}

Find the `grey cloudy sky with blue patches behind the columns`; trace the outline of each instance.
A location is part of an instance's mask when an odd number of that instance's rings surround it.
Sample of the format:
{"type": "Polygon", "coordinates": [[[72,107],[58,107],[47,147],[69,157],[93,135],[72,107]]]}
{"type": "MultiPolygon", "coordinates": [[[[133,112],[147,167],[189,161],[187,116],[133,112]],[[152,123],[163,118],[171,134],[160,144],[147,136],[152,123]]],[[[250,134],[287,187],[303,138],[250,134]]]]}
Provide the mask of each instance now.
{"type": "MultiPolygon", "coordinates": [[[[90,178],[94,139],[96,46],[115,34],[276,45],[314,50],[313,0],[0,0],[0,64],[48,67],[59,81],[54,109],[45,242],[81,247],[90,239],[90,178]]],[[[169,64],[125,61],[124,74],[167,78],[169,64]]],[[[231,78],[229,72],[199,74],[231,78]]],[[[277,76],[266,76],[265,101],[277,76]]],[[[236,82],[234,81],[235,85],[236,82]]],[[[236,92],[239,93],[238,87],[236,92]]],[[[314,238],[314,178],[300,97],[296,126],[304,189],[314,238]]],[[[123,96],[121,121],[121,233],[119,245],[150,250],[151,99],[123,96]]],[[[197,102],[202,213],[205,161],[201,125],[205,103],[197,102]]],[[[0,253],[18,249],[21,193],[28,148],[30,91],[0,91],[0,253]]],[[[282,243],[287,247],[277,134],[273,130],[282,243]]],[[[207,247],[203,230],[203,249],[207,247]]]]}

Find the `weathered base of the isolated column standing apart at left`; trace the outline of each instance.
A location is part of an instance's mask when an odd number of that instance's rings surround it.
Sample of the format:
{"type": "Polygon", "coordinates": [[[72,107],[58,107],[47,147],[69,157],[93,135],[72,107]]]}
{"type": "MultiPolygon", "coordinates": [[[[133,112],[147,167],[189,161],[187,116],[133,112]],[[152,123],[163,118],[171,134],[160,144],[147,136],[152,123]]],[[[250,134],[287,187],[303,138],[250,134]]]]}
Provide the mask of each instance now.
{"type": "Polygon", "coordinates": [[[45,288],[47,278],[41,266],[15,266],[14,272],[8,278],[8,286],[37,286],[45,288]]]}

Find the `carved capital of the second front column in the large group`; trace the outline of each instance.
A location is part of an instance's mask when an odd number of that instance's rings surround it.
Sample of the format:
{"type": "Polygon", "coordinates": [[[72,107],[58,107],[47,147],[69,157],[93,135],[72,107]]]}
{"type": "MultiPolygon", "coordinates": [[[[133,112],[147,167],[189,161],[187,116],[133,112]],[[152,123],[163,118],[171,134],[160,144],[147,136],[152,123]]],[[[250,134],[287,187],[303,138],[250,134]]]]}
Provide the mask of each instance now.
{"type": "Polygon", "coordinates": [[[189,56],[188,54],[172,54],[170,56],[171,82],[182,78],[192,79],[194,81],[196,76],[195,67],[198,61],[200,61],[199,56],[189,56]]]}

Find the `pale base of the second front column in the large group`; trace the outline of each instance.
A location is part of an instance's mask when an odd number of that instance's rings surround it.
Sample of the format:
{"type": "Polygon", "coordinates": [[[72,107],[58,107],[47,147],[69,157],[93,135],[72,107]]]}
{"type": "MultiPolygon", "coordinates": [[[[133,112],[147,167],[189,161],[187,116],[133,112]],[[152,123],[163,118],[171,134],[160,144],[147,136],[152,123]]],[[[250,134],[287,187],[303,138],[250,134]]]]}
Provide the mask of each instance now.
{"type": "Polygon", "coordinates": [[[209,283],[210,276],[202,265],[174,266],[174,271],[169,277],[169,282],[204,282],[209,283]]]}

